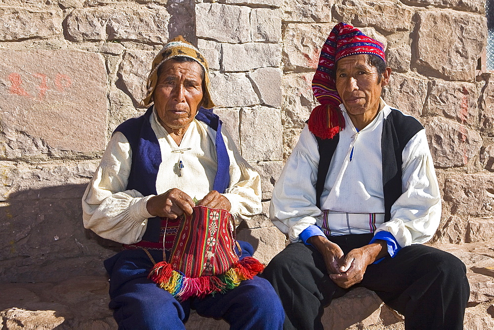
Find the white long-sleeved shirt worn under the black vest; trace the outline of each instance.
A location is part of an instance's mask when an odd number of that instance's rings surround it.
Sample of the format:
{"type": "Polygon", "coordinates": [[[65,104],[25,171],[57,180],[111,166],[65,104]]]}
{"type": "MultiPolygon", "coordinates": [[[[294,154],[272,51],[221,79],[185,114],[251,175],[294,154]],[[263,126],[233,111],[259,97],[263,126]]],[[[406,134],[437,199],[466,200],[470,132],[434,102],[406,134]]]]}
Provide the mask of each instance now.
{"type": "MultiPolygon", "coordinates": [[[[340,107],[346,128],[339,134],[329,166],[321,209],[384,213],[381,134],[383,120],[391,109],[382,102],[376,118],[357,131],[344,106],[340,107]]],[[[403,194],[391,207],[391,220],[376,223],[375,233],[387,231],[405,247],[427,242],[434,235],[441,217],[441,198],[424,129],[408,142],[402,158],[403,194]]],[[[288,234],[291,242],[299,242],[300,233],[307,227],[322,226],[323,212],[316,206],[318,165],[317,140],[305,126],[275,185],[270,206],[272,222],[288,234]]],[[[358,223],[352,224],[355,226],[366,229],[358,223]]]]}

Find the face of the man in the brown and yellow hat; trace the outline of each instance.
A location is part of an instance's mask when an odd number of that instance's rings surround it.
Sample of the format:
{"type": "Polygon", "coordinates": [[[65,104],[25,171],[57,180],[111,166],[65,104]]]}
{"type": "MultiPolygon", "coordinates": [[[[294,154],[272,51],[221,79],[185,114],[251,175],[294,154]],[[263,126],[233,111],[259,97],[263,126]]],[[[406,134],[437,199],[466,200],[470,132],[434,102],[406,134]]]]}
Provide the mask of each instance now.
{"type": "Polygon", "coordinates": [[[203,100],[201,65],[173,59],[162,65],[153,93],[159,121],[165,128],[184,128],[194,120],[203,100]]]}

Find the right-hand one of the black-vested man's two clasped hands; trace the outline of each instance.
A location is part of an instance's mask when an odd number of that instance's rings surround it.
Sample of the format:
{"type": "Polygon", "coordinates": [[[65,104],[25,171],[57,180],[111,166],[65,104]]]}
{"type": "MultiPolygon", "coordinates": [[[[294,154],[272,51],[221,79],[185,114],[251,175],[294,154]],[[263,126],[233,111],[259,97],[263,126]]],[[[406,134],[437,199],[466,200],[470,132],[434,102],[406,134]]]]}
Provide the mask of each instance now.
{"type": "Polygon", "coordinates": [[[362,282],[367,266],[387,254],[387,243],[377,240],[375,243],[362,248],[354,248],[340,259],[339,273],[330,274],[329,278],[338,287],[348,289],[362,282]]]}

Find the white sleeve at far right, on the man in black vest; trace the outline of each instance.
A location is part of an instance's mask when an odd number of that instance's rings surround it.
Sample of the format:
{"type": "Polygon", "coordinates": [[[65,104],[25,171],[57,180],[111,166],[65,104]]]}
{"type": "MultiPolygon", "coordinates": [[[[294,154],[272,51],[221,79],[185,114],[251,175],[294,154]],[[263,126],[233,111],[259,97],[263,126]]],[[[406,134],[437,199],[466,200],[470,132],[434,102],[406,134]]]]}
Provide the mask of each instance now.
{"type": "Polygon", "coordinates": [[[402,153],[403,194],[391,206],[391,220],[376,234],[389,232],[401,247],[429,241],[441,220],[441,196],[425,129],[409,141],[402,153]]]}

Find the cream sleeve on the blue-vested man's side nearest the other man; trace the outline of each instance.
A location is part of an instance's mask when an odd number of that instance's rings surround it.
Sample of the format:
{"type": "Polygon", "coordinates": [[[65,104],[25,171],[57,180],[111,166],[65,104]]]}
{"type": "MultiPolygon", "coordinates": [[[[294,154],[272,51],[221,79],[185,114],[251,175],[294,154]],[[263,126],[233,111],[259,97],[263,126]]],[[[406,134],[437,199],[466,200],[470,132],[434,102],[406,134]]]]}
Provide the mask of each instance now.
{"type": "Polygon", "coordinates": [[[226,130],[222,132],[230,157],[230,186],[222,195],[230,202],[230,213],[239,225],[262,211],[261,177],[240,156],[230,134],[226,130]]]}

